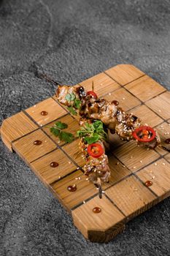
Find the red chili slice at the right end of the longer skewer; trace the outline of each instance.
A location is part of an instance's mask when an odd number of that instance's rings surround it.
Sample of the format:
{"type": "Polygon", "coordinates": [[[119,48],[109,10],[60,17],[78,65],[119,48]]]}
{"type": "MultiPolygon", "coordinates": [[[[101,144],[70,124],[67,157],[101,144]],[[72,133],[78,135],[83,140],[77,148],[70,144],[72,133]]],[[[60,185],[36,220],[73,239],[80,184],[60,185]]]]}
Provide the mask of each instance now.
{"type": "Polygon", "coordinates": [[[141,142],[150,142],[153,139],[155,139],[156,133],[155,130],[152,129],[151,127],[139,127],[138,129],[135,129],[133,132],[133,137],[141,142]],[[139,137],[139,133],[141,134],[142,132],[142,138],[139,137]],[[151,135],[150,138],[148,138],[148,135],[151,135]]]}

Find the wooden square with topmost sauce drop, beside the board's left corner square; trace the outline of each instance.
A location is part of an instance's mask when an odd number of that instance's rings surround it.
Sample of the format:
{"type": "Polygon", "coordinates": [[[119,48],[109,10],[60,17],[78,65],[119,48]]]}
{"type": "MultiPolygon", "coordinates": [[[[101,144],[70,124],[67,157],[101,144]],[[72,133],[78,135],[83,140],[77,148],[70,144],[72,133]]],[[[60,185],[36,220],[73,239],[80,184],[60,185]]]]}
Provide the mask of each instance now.
{"type": "Polygon", "coordinates": [[[33,118],[34,121],[39,124],[39,126],[42,126],[50,123],[51,121],[54,121],[63,115],[66,115],[67,112],[61,108],[61,106],[55,102],[54,99],[48,98],[43,102],[39,102],[33,107],[28,108],[26,113],[28,113],[28,115],[31,116],[31,118],[33,118]],[[47,116],[42,116],[42,111],[46,111],[47,116]]]}

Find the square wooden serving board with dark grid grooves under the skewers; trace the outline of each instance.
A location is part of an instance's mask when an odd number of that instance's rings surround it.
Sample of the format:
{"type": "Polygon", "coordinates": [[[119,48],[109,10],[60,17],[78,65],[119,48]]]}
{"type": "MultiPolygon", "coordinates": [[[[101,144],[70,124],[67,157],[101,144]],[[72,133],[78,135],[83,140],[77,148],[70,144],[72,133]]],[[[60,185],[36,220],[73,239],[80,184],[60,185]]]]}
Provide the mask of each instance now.
{"type": "MultiPolygon", "coordinates": [[[[128,64],[112,67],[80,85],[91,90],[92,80],[98,97],[116,99],[125,111],[142,118],[143,124],[156,127],[162,144],[170,148],[164,143],[170,138],[169,91],[128,64]]],[[[50,97],[4,120],[1,138],[72,214],[74,225],[85,238],[106,242],[121,233],[130,219],[170,195],[170,154],[138,147],[134,141],[123,142],[115,135],[109,152],[112,178],[103,185],[103,198],[99,199],[98,190],[83,175],[79,139],[64,144],[46,127],[62,121],[75,135],[78,118],[58,104],[55,96],[50,97]],[[42,116],[42,111],[47,116],[42,116]],[[41,144],[34,145],[35,140],[41,144]],[[52,162],[58,166],[51,167],[52,162]],[[152,186],[147,187],[146,181],[152,181],[152,186]],[[77,190],[69,192],[67,188],[74,184],[77,190]],[[93,212],[96,207],[101,209],[99,213],[93,212]]]]}

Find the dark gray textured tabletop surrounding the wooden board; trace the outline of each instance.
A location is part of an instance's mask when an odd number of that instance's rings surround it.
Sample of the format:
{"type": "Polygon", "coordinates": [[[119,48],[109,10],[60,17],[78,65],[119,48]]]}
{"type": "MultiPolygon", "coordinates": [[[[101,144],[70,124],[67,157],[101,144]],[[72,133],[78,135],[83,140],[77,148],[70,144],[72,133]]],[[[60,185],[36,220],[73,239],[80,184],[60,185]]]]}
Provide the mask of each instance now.
{"type": "MultiPolygon", "coordinates": [[[[131,63],[170,89],[170,1],[0,1],[0,117],[49,97],[44,71],[74,84],[131,63]]],[[[0,255],[170,255],[170,199],[109,244],[91,244],[0,140],[0,255]]]]}

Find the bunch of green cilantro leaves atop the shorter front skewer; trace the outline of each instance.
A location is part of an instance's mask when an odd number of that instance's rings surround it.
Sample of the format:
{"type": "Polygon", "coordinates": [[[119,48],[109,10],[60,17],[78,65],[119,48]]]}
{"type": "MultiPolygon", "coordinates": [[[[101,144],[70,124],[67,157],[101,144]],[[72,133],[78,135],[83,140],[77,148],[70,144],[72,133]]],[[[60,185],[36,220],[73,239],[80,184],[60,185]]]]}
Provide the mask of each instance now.
{"type": "Polygon", "coordinates": [[[93,124],[85,123],[84,127],[80,127],[77,136],[83,138],[88,144],[95,143],[102,139],[107,140],[107,132],[104,131],[102,121],[95,121],[93,124]]]}

